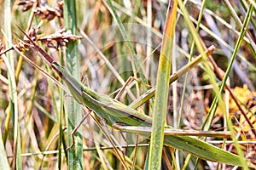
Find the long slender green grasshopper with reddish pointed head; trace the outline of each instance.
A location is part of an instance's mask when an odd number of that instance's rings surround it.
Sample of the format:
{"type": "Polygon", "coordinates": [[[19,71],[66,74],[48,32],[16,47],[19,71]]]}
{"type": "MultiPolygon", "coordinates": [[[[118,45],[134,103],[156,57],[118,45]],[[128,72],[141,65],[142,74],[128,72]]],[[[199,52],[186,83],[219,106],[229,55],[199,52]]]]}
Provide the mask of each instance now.
{"type": "MultiPolygon", "coordinates": [[[[22,30],[20,29],[20,31],[22,30]]],[[[26,35],[25,31],[22,32],[26,35]]],[[[107,122],[107,124],[111,127],[121,129],[123,131],[126,130],[127,132],[137,133],[146,138],[149,138],[152,125],[151,117],[143,115],[142,113],[131,108],[131,106],[124,105],[123,103],[110,98],[108,95],[97,94],[92,89],[84,86],[84,84],[77,81],[64,66],[60,65],[54,59],[52,59],[52,57],[47,54],[43,48],[40,48],[36,42],[33,42],[32,39],[27,35],[26,37],[29,40],[30,46],[36,49],[38,53],[41,54],[40,57],[43,60],[46,60],[49,66],[55,70],[55,72],[64,82],[66,82],[70,94],[72,94],[73,98],[76,99],[80,105],[83,105],[90,111],[94,111],[99,119],[104,119],[104,121],[107,122]],[[119,126],[117,124],[121,125],[119,126]],[[144,127],[141,128],[144,130],[135,130],[135,128],[132,128],[133,126],[144,127]]],[[[212,54],[213,50],[214,48],[209,48],[205,54],[212,54]]],[[[181,71],[178,71],[176,74],[174,74],[174,76],[171,77],[170,82],[173,82],[175,79],[177,79],[178,76],[188,71],[192,66],[197,65],[201,61],[202,57],[203,54],[195,59],[192,64],[190,63],[189,65],[186,65],[181,71]]],[[[154,96],[154,88],[143,94],[143,102],[150,98],[145,97],[147,94],[150,94],[150,97],[154,96]]],[[[138,105],[141,105],[141,103],[142,101],[138,99],[137,103],[133,103],[133,107],[135,108],[138,105]]],[[[178,136],[178,131],[177,133],[172,133],[175,132],[175,129],[167,125],[165,132],[166,135],[164,144],[177,150],[183,150],[187,153],[208,161],[219,161],[236,166],[241,165],[241,157],[225,150],[221,150],[212,144],[207,144],[200,139],[196,139],[190,136],[183,136],[189,135],[188,133],[178,136]]],[[[207,133],[206,135],[211,134],[207,133]]]]}

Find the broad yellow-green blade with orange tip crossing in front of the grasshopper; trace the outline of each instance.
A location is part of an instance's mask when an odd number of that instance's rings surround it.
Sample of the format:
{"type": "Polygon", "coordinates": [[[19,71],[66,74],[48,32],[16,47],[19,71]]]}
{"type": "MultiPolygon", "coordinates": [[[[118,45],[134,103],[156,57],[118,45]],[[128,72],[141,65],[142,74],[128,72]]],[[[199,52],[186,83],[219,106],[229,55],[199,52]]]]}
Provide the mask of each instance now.
{"type": "Polygon", "coordinates": [[[177,1],[169,3],[166,14],[165,37],[162,40],[160,62],[157,72],[154,115],[149,149],[149,169],[160,169],[166,124],[167,100],[169,94],[169,77],[171,73],[172,47],[177,14],[177,1]],[[171,4],[172,3],[172,4],[171,4]]]}

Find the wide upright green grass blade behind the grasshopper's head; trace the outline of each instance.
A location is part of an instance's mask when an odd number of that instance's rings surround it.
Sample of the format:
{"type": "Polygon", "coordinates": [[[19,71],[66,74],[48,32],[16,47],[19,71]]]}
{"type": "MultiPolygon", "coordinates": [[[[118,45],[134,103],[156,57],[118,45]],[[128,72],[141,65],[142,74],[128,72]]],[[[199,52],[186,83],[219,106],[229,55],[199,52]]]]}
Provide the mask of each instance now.
{"type": "MultiPolygon", "coordinates": [[[[77,17],[76,17],[76,1],[64,1],[64,20],[67,30],[71,30],[74,35],[77,33],[77,17]]],[[[79,48],[78,41],[67,43],[67,69],[71,72],[73,77],[80,79],[79,74],[79,48]]],[[[82,119],[82,110],[80,105],[72,98],[67,98],[67,105],[65,105],[67,113],[67,131],[68,131],[68,145],[73,144],[71,132],[73,128],[79,124],[82,119]]],[[[73,148],[68,150],[68,168],[69,169],[83,169],[83,154],[82,154],[82,136],[81,133],[75,134],[75,144],[73,148]]]]}

